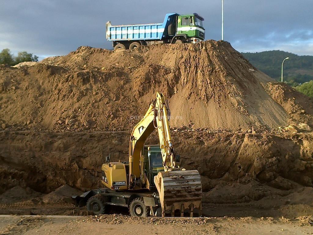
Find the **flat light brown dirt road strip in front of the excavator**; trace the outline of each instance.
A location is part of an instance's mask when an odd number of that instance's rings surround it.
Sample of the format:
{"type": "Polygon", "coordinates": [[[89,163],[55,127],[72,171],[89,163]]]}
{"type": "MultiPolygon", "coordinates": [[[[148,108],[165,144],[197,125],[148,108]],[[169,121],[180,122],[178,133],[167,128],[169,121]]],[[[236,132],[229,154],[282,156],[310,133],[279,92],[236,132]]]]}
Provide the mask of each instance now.
{"type": "MultiPolygon", "coordinates": [[[[310,222],[268,218],[0,216],[0,234],[313,234],[310,222]],[[115,219],[116,218],[116,219],[115,219]]],[[[310,220],[309,220],[310,221],[310,220]]]]}

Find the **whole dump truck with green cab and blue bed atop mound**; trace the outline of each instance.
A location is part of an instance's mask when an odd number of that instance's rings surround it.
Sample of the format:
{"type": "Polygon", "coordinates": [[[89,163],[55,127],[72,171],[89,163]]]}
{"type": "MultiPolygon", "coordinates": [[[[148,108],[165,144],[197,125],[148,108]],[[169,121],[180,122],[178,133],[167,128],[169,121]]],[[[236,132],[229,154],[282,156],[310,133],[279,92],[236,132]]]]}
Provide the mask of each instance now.
{"type": "Polygon", "coordinates": [[[106,39],[113,42],[114,50],[157,43],[198,43],[204,40],[203,21],[197,13],[167,13],[159,24],[111,25],[108,21],[106,39]]]}

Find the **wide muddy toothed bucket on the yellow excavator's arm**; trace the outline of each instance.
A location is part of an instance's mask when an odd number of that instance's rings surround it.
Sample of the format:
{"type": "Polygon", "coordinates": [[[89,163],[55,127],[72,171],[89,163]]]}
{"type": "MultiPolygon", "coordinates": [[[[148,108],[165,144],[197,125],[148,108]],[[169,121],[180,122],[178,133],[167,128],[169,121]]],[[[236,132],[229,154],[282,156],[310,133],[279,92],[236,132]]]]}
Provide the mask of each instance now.
{"type": "Polygon", "coordinates": [[[198,170],[172,170],[154,176],[162,216],[202,215],[202,185],[198,170]]]}

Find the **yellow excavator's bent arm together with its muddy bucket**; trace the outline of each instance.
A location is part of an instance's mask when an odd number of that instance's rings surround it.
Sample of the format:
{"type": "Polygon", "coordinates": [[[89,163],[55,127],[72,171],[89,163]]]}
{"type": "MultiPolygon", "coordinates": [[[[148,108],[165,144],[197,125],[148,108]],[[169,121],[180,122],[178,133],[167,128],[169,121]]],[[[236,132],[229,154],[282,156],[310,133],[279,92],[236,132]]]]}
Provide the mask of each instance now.
{"type": "Polygon", "coordinates": [[[162,93],[145,116],[133,128],[129,142],[129,188],[140,188],[145,183],[144,158],[141,150],[146,138],[157,129],[164,172],[154,177],[159,192],[162,216],[201,215],[202,185],[198,170],[186,170],[175,163],[175,151],[169,127],[169,108],[162,93]]]}

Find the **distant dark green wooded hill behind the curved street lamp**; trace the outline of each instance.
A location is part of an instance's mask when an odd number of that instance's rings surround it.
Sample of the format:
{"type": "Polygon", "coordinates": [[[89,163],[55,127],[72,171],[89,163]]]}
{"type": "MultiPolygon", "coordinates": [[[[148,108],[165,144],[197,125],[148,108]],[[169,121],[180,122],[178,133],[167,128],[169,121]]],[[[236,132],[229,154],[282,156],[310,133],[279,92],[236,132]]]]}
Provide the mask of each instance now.
{"type": "Polygon", "coordinates": [[[313,56],[311,55],[300,56],[281,50],[241,54],[256,68],[278,81],[281,76],[281,63],[286,57],[290,57],[284,63],[284,80],[291,86],[313,80],[313,56]]]}

